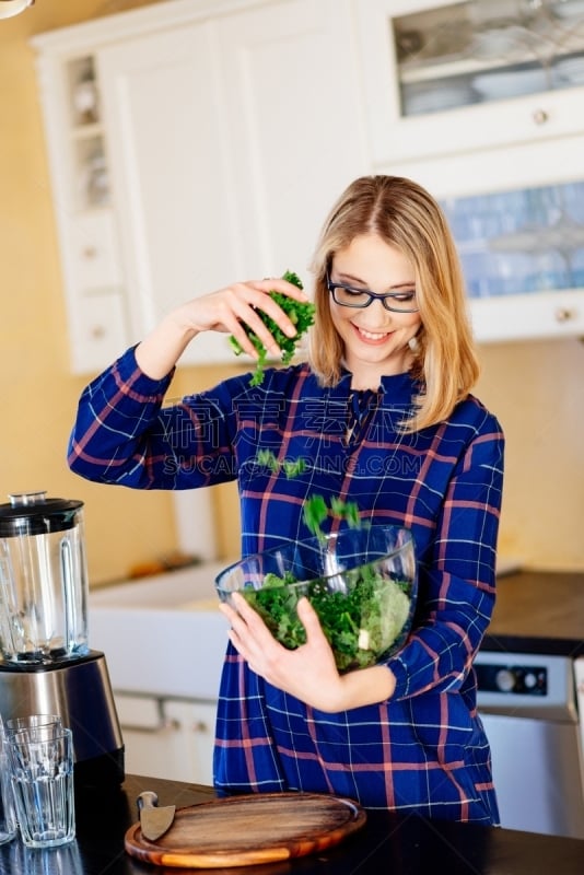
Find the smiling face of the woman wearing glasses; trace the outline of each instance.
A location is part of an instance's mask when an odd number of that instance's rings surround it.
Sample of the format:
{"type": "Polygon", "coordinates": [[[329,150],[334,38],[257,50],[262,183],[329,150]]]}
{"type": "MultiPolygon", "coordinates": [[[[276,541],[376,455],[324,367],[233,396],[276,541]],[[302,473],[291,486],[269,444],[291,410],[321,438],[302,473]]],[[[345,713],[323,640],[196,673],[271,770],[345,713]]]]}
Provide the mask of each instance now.
{"type": "MultiPolygon", "coordinates": [[[[377,294],[416,289],[409,259],[376,234],[359,235],[335,253],[329,272],[332,282],[377,294]]],[[[362,310],[337,304],[332,295],[329,304],[332,323],[344,345],[347,368],[353,374],[353,388],[375,389],[383,375],[409,369],[408,345],[420,328],[419,313],[395,313],[376,299],[362,310]]]]}

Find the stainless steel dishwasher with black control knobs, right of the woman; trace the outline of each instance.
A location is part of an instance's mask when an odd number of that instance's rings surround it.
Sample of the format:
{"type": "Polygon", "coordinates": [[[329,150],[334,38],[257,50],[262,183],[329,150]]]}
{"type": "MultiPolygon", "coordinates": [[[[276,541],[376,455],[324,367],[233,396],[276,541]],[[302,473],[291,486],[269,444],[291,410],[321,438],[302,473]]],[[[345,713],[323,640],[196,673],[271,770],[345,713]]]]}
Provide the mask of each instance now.
{"type": "Polygon", "coordinates": [[[584,658],[480,651],[475,667],[501,825],[584,839],[584,658]]]}

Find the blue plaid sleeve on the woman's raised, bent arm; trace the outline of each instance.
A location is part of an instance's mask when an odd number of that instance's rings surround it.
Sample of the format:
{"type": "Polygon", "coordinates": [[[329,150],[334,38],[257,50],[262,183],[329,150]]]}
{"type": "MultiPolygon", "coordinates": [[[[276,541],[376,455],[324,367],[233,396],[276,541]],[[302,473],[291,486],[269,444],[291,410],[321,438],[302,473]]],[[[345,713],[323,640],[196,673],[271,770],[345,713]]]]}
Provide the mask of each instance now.
{"type": "Polygon", "coordinates": [[[129,349],[84,389],[68,464],[89,480],[188,489],[233,479],[230,404],[208,393],[162,407],[173,373],[147,376],[129,349]]]}

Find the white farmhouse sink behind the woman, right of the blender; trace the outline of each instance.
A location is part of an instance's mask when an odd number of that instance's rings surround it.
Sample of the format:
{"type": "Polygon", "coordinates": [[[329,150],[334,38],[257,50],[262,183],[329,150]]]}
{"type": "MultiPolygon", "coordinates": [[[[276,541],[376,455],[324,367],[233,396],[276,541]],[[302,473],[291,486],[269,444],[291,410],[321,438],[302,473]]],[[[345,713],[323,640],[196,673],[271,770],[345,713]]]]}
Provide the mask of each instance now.
{"type": "Polygon", "coordinates": [[[229,561],[90,591],[92,650],[116,692],[217,700],[227,643],[215,575],[229,561]]]}

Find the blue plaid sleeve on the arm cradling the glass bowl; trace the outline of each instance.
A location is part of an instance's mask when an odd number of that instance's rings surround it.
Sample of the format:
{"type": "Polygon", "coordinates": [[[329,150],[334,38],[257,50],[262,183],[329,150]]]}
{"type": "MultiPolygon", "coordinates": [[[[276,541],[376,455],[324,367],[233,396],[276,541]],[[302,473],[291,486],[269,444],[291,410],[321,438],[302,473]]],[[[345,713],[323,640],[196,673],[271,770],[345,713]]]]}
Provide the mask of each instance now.
{"type": "Polygon", "coordinates": [[[430,556],[419,570],[414,629],[388,666],[394,698],[460,688],[491,620],[504,439],[486,413],[449,481],[430,556]]]}

